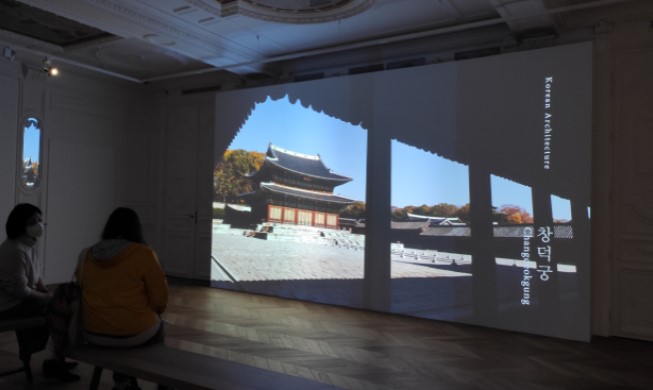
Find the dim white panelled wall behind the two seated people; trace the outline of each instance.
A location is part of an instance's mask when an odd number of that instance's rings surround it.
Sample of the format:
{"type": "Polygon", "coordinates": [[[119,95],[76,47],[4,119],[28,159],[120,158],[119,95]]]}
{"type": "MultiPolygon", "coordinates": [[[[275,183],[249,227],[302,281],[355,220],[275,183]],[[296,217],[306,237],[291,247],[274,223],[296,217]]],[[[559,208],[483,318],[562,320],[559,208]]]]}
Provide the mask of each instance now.
{"type": "Polygon", "coordinates": [[[0,216],[4,225],[18,202],[43,210],[46,282],[71,278],[78,253],[98,240],[117,206],[139,212],[146,239],[156,246],[158,140],[142,88],[66,69],[57,78],[11,69],[0,67],[0,216]],[[27,113],[39,117],[43,131],[37,191],[15,183],[19,127],[27,113]]]}

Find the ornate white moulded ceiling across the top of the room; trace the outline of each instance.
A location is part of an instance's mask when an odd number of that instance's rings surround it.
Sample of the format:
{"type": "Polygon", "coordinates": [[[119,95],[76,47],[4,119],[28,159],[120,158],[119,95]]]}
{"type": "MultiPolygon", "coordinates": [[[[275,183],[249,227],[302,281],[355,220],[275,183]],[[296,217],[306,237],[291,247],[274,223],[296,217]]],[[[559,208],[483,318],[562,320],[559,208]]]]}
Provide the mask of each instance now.
{"type": "Polygon", "coordinates": [[[47,44],[47,37],[12,34],[8,31],[18,31],[16,23],[0,17],[0,42],[15,49],[19,59],[24,47],[138,82],[208,72],[274,78],[320,67],[430,61],[438,52],[447,57],[484,47],[527,50],[592,39],[601,20],[648,17],[650,26],[653,19],[651,0],[4,1],[6,7],[33,12],[29,17],[37,25],[39,17],[43,25],[55,20],[64,38],[58,46],[47,44]],[[66,21],[113,35],[65,41],[75,36],[74,24],[66,21]]]}

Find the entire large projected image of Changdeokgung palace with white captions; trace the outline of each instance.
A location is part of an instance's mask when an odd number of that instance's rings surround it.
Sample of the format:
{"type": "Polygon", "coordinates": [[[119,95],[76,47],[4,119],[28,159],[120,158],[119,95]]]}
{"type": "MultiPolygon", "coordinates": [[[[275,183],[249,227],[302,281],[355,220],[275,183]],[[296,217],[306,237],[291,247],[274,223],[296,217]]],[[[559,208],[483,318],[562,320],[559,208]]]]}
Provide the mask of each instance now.
{"type": "Polygon", "coordinates": [[[575,44],[218,93],[213,285],[587,340],[591,71],[575,44]]]}

